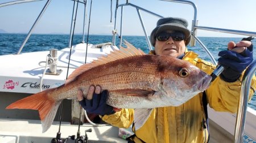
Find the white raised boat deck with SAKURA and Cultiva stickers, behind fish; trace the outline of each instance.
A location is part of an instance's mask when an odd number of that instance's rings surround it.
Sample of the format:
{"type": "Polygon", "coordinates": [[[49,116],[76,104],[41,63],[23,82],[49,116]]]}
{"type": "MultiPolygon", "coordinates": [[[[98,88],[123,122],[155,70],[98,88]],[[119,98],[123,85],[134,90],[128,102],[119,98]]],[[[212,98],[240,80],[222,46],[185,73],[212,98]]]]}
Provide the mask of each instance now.
{"type": "MultiPolygon", "coordinates": [[[[72,46],[72,54],[69,67],[79,67],[85,62],[86,44],[72,46]]],[[[102,46],[97,48],[88,45],[88,54],[86,62],[92,62],[93,59],[109,53],[116,46],[102,46]]],[[[68,67],[69,48],[57,51],[58,66],[68,67]]],[[[42,66],[40,62],[45,62],[49,51],[38,51],[23,53],[19,55],[1,55],[0,64],[0,92],[17,92],[17,93],[38,93],[40,79],[42,77],[45,63],[42,66]]],[[[60,75],[44,75],[42,89],[55,88],[65,83],[67,68],[57,67],[62,70],[60,75]]],[[[75,69],[70,68],[68,75],[75,69]]]]}

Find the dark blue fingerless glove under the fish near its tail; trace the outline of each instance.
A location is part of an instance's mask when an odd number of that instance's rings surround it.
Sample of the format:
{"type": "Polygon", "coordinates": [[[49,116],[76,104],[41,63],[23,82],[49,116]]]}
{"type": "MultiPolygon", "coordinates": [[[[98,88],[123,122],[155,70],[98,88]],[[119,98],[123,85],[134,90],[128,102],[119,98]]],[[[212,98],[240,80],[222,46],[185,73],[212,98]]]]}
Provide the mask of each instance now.
{"type": "Polygon", "coordinates": [[[98,115],[114,114],[114,107],[106,104],[107,96],[108,90],[104,90],[100,94],[93,93],[93,98],[91,100],[84,98],[82,101],[79,101],[79,103],[86,110],[86,112],[89,113],[98,115]]]}

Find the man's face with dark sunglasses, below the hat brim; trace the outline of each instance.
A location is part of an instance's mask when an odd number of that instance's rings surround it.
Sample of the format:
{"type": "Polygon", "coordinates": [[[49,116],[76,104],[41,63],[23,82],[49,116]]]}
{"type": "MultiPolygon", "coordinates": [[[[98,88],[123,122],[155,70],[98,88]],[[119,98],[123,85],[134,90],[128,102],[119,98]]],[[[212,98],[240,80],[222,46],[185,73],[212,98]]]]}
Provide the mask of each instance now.
{"type": "Polygon", "coordinates": [[[157,55],[169,55],[175,58],[179,57],[179,55],[183,54],[186,49],[184,38],[179,38],[182,36],[184,36],[183,33],[175,33],[175,31],[159,33],[158,36],[156,36],[155,53],[157,55]],[[168,36],[170,37],[168,38],[168,36]],[[174,36],[178,38],[175,38],[174,36]]]}

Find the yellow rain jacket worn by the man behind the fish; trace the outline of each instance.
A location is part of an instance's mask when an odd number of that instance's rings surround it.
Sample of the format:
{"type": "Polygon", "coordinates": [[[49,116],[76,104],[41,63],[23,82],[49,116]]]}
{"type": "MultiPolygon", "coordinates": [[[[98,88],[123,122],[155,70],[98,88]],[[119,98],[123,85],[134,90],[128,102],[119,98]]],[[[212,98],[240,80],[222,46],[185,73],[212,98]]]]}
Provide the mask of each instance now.
{"type": "MultiPolygon", "coordinates": [[[[212,63],[197,58],[197,54],[192,51],[186,52],[183,60],[195,64],[208,74],[216,68],[212,63]]],[[[217,77],[205,92],[209,106],[216,111],[237,112],[241,77],[233,83],[228,83],[217,77]]],[[[255,81],[254,76],[249,99],[254,94],[255,81]]],[[[136,136],[133,137],[133,141],[207,142],[209,135],[202,98],[203,93],[199,93],[183,105],[155,108],[146,123],[135,131],[136,136]]],[[[119,128],[128,128],[133,124],[134,110],[122,109],[115,114],[104,115],[102,120],[119,128]]]]}

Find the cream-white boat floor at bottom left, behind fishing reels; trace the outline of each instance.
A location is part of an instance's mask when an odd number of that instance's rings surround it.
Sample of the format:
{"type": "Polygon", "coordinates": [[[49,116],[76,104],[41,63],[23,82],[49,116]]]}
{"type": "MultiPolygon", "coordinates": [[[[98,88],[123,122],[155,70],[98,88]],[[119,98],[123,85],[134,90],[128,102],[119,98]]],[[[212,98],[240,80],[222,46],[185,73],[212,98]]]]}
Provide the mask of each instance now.
{"type": "MultiPolygon", "coordinates": [[[[51,142],[56,137],[59,129],[59,122],[53,122],[47,132],[42,133],[40,120],[23,120],[23,119],[3,119],[0,118],[0,142],[1,143],[45,143],[51,142]]],[[[93,127],[90,124],[83,124],[80,127],[81,136],[85,135],[85,130],[92,128],[92,132],[86,132],[88,142],[127,142],[118,137],[118,128],[112,125],[103,127],[93,127]]],[[[76,135],[78,126],[71,125],[68,122],[61,124],[61,138],[67,138],[76,135]]],[[[75,142],[69,140],[68,142],[75,142]]]]}

